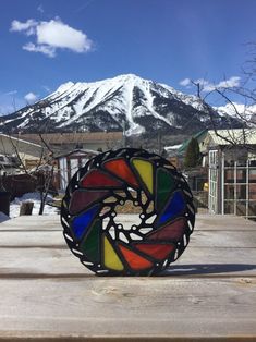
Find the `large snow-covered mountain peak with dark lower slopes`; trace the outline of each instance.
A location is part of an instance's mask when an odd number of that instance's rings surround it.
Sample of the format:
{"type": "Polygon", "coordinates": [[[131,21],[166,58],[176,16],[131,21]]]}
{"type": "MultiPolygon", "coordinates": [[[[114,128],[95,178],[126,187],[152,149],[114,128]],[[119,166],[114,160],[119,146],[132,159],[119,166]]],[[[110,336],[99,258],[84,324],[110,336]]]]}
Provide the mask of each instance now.
{"type": "Polygon", "coordinates": [[[94,83],[68,82],[35,105],[2,117],[0,131],[192,133],[210,125],[209,111],[223,126],[223,118],[197,97],[126,74],[94,83]]]}

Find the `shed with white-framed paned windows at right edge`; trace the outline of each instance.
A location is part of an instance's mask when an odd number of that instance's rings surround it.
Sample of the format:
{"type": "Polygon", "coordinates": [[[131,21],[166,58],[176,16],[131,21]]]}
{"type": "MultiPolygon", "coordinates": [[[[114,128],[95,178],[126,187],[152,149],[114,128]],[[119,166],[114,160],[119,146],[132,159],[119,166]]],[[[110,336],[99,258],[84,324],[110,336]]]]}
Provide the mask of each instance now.
{"type": "Polygon", "coordinates": [[[256,130],[208,131],[209,211],[256,219],[256,130]]]}

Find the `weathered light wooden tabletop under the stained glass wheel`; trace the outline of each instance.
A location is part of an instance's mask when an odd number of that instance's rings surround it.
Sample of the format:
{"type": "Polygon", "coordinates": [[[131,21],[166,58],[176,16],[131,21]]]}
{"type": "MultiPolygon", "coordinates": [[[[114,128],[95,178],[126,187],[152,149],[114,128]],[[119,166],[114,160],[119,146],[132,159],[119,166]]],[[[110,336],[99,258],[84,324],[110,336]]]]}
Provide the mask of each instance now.
{"type": "Polygon", "coordinates": [[[198,215],[187,249],[161,277],[101,278],[71,254],[59,217],[9,220],[0,341],[256,341],[255,247],[255,222],[198,215]]]}

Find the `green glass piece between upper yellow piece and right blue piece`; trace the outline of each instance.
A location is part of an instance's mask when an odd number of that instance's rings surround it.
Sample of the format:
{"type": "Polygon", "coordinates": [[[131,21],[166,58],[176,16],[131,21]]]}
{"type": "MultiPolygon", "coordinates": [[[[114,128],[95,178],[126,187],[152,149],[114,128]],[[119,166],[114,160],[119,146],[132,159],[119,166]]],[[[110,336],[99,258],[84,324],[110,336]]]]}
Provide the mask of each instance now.
{"type": "Polygon", "coordinates": [[[175,181],[168,170],[162,168],[157,170],[156,207],[158,211],[166,205],[174,185],[175,181]]]}

